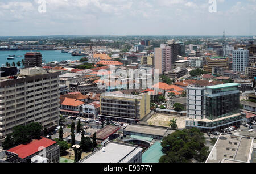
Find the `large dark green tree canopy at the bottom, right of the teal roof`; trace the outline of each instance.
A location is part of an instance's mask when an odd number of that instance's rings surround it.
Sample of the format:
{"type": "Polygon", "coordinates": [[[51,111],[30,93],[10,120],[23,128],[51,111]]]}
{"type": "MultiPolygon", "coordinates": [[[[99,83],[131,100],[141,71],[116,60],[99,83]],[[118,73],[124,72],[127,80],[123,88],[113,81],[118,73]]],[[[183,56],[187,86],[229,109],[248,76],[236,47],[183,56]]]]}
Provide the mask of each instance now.
{"type": "Polygon", "coordinates": [[[197,128],[177,130],[163,138],[160,163],[205,162],[209,154],[204,134],[197,128]]]}

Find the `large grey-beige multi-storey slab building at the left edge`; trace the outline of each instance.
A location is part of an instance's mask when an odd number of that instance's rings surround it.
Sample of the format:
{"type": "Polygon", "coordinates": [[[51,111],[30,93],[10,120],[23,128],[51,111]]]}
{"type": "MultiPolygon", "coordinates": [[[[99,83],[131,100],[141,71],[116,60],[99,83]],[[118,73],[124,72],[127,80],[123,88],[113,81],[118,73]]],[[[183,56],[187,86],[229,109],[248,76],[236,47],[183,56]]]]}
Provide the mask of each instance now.
{"type": "Polygon", "coordinates": [[[0,139],[18,125],[39,122],[51,129],[59,124],[59,75],[34,67],[0,78],[0,139]]]}

